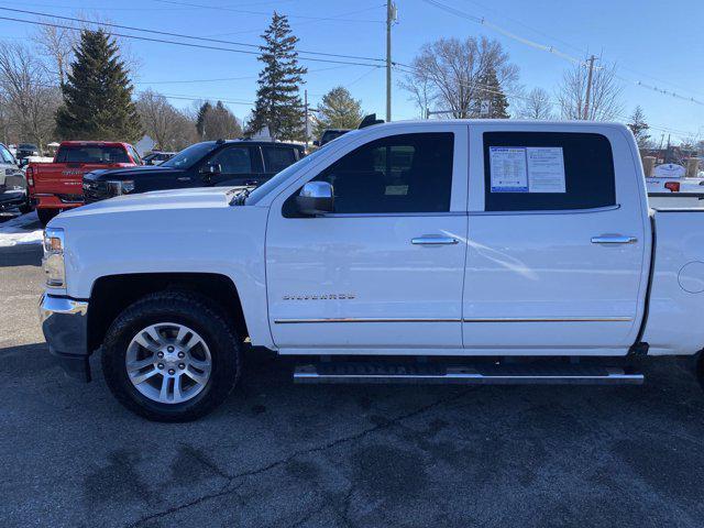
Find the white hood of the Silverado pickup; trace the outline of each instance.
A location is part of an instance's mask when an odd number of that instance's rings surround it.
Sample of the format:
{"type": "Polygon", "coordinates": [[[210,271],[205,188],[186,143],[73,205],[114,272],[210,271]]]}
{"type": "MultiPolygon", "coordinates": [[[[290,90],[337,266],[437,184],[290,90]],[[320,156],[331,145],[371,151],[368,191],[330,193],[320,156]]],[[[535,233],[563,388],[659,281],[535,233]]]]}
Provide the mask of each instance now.
{"type": "Polygon", "coordinates": [[[242,187],[200,187],[118,196],[66,211],[61,218],[173,209],[229,208],[242,187]]]}

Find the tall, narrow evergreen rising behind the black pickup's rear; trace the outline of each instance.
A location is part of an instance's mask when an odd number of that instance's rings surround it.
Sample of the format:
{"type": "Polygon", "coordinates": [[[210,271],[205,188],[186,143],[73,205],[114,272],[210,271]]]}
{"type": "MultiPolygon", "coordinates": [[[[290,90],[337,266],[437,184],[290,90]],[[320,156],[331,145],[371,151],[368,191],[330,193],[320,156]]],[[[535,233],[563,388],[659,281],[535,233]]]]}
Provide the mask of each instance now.
{"type": "Polygon", "coordinates": [[[298,65],[298,37],[292,34],[287,16],[276,12],[262,37],[265,43],[260,46],[258,59],[264,63],[264,69],[260,73],[248,134],[267,127],[272,138],[302,139],[305,111],[298,85],[307,69],[298,65]]]}

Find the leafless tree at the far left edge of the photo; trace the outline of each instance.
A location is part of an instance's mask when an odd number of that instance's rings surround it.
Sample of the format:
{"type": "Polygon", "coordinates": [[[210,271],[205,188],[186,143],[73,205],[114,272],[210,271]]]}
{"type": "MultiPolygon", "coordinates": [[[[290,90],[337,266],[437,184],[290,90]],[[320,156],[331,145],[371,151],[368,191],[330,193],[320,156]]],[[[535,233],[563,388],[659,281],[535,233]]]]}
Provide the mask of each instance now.
{"type": "Polygon", "coordinates": [[[29,46],[0,43],[0,91],[19,136],[42,148],[54,133],[61,95],[29,46]]]}

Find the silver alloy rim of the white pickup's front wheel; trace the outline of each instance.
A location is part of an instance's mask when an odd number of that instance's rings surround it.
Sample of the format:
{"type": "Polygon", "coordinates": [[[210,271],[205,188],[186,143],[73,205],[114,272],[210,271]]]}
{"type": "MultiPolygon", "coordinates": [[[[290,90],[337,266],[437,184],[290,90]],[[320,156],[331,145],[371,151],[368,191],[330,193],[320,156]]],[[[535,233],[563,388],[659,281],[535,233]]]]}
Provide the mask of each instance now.
{"type": "Polygon", "coordinates": [[[212,358],[195,330],[160,322],[140,330],[124,356],[128,377],[144,396],[160,404],[180,404],[200,393],[210,378],[212,358]]]}

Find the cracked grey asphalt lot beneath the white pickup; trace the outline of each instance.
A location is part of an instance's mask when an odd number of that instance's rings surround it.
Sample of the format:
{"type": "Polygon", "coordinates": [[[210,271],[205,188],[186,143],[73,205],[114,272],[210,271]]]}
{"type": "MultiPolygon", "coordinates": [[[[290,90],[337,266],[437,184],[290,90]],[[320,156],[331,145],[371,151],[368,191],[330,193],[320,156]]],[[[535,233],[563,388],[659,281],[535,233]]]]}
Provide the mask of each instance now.
{"type": "Polygon", "coordinates": [[[704,526],[686,363],[641,387],[300,386],[253,351],[216,413],[151,424],[98,358],[87,385],[54,366],[40,257],[0,246],[3,526],[704,526]]]}

